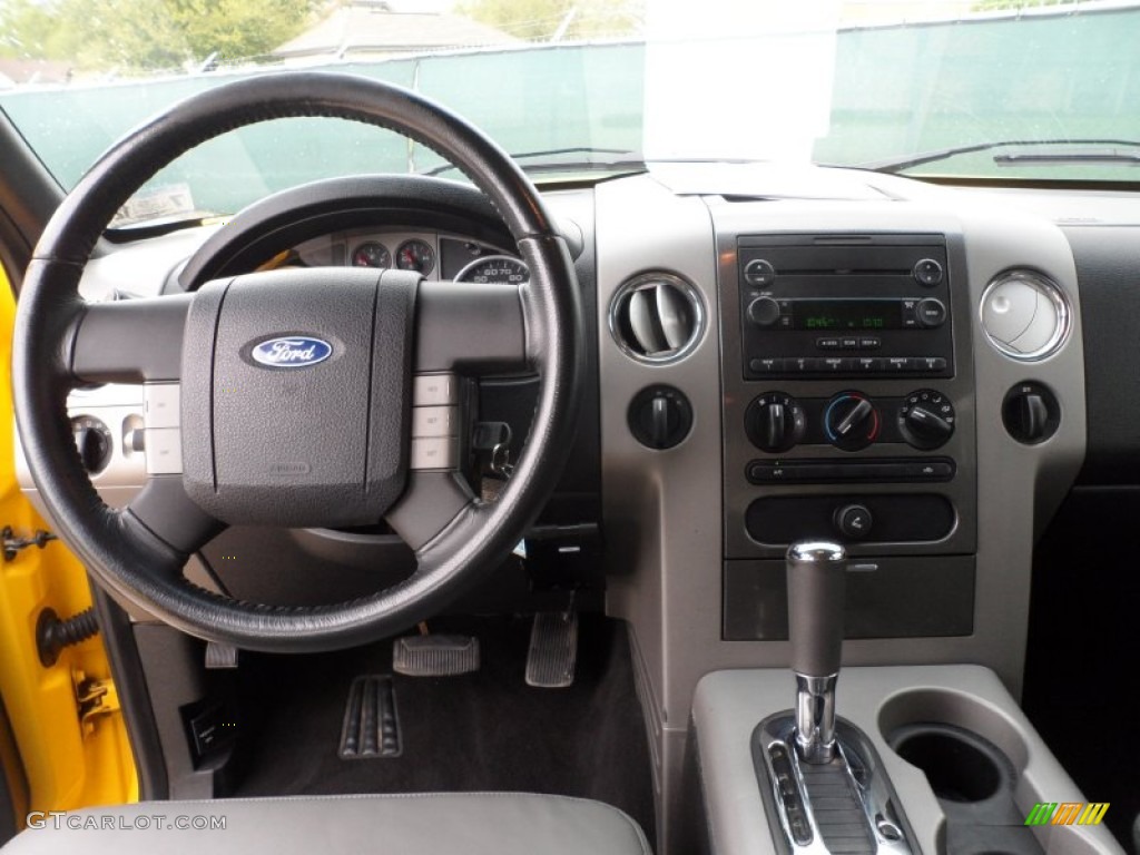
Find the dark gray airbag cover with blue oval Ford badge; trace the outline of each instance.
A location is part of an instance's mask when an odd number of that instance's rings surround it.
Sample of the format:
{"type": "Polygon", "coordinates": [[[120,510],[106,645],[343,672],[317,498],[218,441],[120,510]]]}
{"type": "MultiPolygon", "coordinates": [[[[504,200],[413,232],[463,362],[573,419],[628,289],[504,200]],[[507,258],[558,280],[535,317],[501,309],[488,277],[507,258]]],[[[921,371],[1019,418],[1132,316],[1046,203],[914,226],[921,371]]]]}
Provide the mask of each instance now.
{"type": "Polygon", "coordinates": [[[377,521],[407,474],[418,280],[285,270],[203,286],[182,348],[188,495],[230,524],[377,521]]]}

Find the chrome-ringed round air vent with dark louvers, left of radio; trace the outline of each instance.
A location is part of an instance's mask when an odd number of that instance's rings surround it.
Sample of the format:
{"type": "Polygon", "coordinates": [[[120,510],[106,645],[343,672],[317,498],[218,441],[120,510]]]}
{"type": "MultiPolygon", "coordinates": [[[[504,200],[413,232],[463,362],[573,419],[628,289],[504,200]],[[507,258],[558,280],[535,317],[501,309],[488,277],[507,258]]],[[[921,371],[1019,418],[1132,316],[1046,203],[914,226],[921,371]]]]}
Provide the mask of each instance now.
{"type": "Polygon", "coordinates": [[[621,285],[610,303],[610,332],[633,359],[653,365],[686,356],[705,332],[697,288],[673,274],[642,274],[621,285]]]}

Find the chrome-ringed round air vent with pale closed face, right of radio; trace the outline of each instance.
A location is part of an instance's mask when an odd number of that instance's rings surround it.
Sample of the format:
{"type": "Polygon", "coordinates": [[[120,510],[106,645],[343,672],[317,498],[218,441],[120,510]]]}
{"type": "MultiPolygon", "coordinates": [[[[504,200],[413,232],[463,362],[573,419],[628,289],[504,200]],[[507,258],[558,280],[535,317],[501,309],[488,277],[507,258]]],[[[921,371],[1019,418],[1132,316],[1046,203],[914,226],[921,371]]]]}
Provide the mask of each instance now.
{"type": "Polygon", "coordinates": [[[1068,298],[1052,279],[1033,270],[1011,270],[982,294],[982,328],[1005,356],[1023,361],[1054,353],[1069,332],[1068,298]]]}

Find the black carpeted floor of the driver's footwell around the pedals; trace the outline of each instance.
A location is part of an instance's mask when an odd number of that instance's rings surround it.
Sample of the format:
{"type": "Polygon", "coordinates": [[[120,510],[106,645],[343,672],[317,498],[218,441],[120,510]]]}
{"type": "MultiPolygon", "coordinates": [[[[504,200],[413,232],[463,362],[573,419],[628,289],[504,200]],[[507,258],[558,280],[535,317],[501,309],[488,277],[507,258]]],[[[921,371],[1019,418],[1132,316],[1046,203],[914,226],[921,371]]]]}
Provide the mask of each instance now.
{"type": "Polygon", "coordinates": [[[399,757],[337,756],[353,679],[390,674],[390,641],[319,656],[243,659],[250,772],[233,796],[524,791],[619,807],[652,839],[649,746],[624,624],[583,616],[577,678],[526,683],[530,619],[431,621],[478,635],[482,667],[457,677],[392,677],[399,757]]]}

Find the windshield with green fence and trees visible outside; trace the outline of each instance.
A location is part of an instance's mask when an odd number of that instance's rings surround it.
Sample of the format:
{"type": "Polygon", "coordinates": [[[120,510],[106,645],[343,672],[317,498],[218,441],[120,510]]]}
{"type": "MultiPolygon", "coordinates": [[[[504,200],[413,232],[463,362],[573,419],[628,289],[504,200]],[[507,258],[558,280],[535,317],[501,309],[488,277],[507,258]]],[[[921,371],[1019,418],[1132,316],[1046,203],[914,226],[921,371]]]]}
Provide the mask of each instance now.
{"type": "MultiPolygon", "coordinates": [[[[179,98],[280,68],[364,74],[536,174],[798,161],[1134,181],[1140,0],[0,0],[0,109],[71,188],[179,98]]],[[[447,172],[373,128],[283,120],[180,158],[120,222],[361,172],[447,172]]]]}

